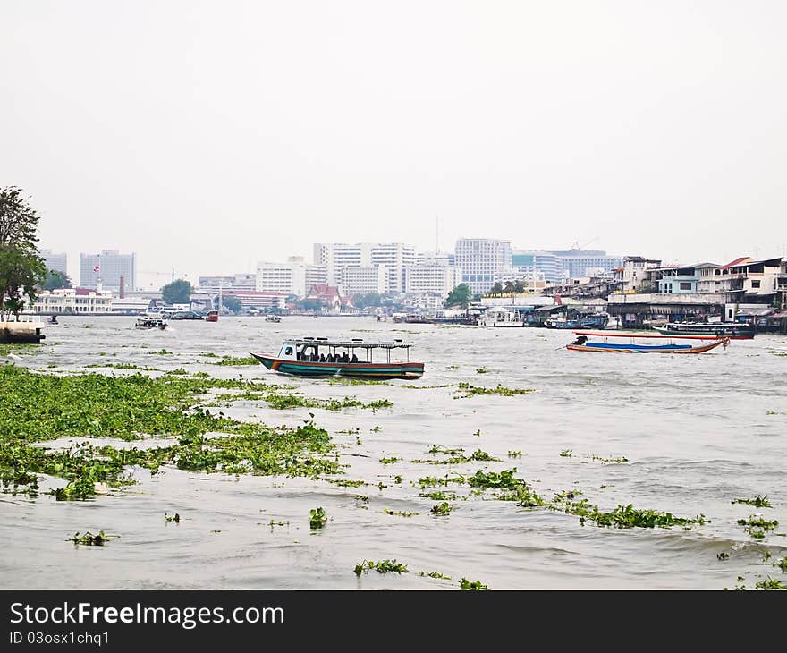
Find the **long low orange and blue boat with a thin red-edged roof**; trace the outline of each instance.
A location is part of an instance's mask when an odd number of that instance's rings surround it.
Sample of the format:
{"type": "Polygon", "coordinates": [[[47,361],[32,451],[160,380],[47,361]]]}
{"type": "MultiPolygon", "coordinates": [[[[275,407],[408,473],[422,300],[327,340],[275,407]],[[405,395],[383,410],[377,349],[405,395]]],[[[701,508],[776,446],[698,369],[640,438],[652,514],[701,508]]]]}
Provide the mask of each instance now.
{"type": "Polygon", "coordinates": [[[730,338],[722,335],[650,335],[632,333],[611,333],[605,331],[574,331],[577,339],[566,345],[572,352],[624,352],[624,353],[704,353],[710,352],[719,345],[724,349],[730,338]],[[597,340],[590,340],[597,338],[597,340]],[[610,339],[613,339],[610,342],[610,339]],[[629,342],[625,342],[625,340],[629,342]],[[638,343],[638,340],[646,343],[638,343]],[[698,343],[673,343],[673,340],[697,340],[698,343]]]}

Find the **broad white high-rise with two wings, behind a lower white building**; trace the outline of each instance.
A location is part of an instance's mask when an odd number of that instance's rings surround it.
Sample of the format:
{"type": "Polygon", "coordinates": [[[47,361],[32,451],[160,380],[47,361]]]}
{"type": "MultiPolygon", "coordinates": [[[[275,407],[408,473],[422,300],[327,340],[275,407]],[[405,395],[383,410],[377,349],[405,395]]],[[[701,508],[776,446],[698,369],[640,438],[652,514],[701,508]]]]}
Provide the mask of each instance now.
{"type": "Polygon", "coordinates": [[[327,283],[340,284],[345,267],[386,267],[386,292],[404,291],[406,268],[415,262],[415,248],[402,242],[327,243],[314,245],[315,265],[326,266],[327,283]]]}

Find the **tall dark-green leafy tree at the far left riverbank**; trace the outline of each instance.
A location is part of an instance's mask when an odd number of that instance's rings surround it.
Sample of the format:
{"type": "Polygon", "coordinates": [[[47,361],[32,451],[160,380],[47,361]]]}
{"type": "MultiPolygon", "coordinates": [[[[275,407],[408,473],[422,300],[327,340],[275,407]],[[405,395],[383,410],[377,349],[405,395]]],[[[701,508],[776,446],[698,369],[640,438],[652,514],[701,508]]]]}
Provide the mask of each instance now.
{"type": "Polygon", "coordinates": [[[47,276],[38,254],[38,214],[21,198],[21,189],[0,190],[0,321],[5,312],[19,316],[25,298],[35,300],[47,276]]]}

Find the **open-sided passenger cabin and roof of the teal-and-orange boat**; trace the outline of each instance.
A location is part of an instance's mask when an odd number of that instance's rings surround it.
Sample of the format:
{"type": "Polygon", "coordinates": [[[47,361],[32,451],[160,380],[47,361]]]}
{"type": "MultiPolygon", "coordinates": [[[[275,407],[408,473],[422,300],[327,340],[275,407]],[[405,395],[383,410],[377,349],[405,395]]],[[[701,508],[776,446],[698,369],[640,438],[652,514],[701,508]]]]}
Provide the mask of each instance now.
{"type": "Polygon", "coordinates": [[[392,362],[391,352],[403,349],[410,362],[410,347],[401,338],[389,341],[332,340],[329,338],[304,337],[285,340],[279,352],[279,360],[308,360],[311,362],[373,363],[377,350],[377,362],[392,362]]]}

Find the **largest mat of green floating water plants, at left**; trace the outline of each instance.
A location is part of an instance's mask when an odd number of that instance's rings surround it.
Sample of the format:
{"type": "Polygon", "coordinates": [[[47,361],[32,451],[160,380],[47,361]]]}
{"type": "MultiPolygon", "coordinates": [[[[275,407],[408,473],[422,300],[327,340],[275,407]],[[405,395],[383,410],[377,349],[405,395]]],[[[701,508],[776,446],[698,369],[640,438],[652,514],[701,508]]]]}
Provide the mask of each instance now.
{"type": "Polygon", "coordinates": [[[55,376],[0,367],[0,481],[34,488],[39,474],[66,479],[52,494],[88,499],[97,488],[135,482],[131,466],[156,473],[163,465],[186,471],[319,478],[341,473],[326,456],[328,433],[311,421],[298,428],[232,420],[195,405],[214,387],[246,382],[141,374],[55,376]],[[207,434],[210,434],[208,437],[207,434]],[[115,449],[72,445],[50,450],[35,443],[61,437],[137,440],[173,437],[165,446],[115,449]]]}

